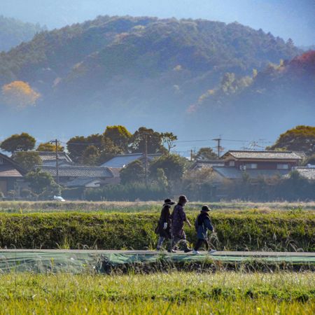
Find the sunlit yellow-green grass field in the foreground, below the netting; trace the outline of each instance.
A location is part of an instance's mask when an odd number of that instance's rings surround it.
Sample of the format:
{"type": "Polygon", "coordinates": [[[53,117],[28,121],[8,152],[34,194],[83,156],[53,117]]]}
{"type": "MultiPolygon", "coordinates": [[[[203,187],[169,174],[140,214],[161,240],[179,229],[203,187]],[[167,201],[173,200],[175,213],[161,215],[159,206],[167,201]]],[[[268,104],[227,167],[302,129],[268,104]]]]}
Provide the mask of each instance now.
{"type": "Polygon", "coordinates": [[[0,314],[314,314],[311,272],[3,274],[0,314]]]}

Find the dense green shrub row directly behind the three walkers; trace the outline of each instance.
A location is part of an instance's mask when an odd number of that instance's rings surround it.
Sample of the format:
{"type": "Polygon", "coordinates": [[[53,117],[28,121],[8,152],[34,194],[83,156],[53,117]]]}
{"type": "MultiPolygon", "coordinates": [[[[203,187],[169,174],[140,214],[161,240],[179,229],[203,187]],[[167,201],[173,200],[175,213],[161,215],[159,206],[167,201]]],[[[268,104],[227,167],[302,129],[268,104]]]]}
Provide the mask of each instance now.
{"type": "MultiPolygon", "coordinates": [[[[197,213],[188,216],[195,220],[197,213]]],[[[218,250],[315,251],[315,215],[214,212],[218,250]]],[[[158,214],[0,214],[1,248],[154,248],[158,214]]],[[[194,228],[187,228],[195,241],[194,228]]]]}

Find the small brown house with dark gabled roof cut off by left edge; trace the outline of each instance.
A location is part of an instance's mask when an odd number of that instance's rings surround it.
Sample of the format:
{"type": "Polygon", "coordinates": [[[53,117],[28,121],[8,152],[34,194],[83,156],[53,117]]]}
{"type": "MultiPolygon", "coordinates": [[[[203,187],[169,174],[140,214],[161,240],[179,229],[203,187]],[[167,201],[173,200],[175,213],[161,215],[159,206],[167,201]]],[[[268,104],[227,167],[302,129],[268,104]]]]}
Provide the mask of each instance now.
{"type": "Polygon", "coordinates": [[[0,192],[3,195],[9,190],[18,190],[18,182],[25,174],[25,170],[18,163],[0,153],[0,192]]]}

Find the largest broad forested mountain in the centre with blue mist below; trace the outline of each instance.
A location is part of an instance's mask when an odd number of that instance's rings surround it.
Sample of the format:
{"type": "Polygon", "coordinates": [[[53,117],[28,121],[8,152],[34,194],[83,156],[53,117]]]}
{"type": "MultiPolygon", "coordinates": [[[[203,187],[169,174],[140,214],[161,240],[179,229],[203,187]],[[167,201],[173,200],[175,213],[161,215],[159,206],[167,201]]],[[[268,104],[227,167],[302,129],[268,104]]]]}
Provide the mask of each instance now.
{"type": "MultiPolygon", "coordinates": [[[[2,99],[0,123],[6,133],[25,130],[45,138],[102,132],[113,124],[180,137],[218,134],[216,112],[190,124],[197,116],[187,109],[200,95],[225,73],[248,76],[300,53],[292,41],[237,22],[99,17],[43,31],[1,53],[0,85],[22,80],[41,98],[23,109],[2,99]],[[209,119],[216,127],[200,128],[209,119]]],[[[232,124],[229,132],[237,128],[232,124]]]]}

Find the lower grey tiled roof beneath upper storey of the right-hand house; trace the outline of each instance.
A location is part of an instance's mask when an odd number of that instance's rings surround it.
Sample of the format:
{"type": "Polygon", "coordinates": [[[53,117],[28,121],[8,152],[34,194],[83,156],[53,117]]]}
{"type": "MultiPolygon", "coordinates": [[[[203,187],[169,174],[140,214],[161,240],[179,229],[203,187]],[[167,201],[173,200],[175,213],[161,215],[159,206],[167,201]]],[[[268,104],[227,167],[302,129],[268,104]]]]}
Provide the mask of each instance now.
{"type": "MultiPolygon", "coordinates": [[[[225,179],[242,179],[244,171],[236,169],[235,167],[213,167],[214,172],[217,172],[225,179]]],[[[247,169],[246,174],[248,174],[250,179],[258,179],[258,177],[273,177],[276,175],[286,175],[290,171],[286,169],[247,169]]]]}

